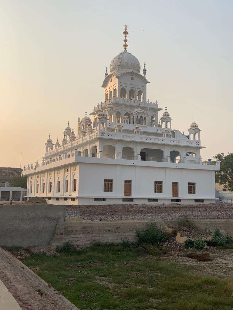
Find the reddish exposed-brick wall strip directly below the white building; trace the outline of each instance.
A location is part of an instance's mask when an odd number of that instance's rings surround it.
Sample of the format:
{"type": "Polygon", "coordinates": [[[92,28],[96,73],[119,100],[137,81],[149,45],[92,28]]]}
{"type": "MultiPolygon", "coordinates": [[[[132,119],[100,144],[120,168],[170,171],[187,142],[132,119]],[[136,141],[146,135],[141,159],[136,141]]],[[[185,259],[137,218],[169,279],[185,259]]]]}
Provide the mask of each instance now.
{"type": "Polygon", "coordinates": [[[89,220],[233,219],[233,204],[65,206],[65,216],[89,220]]]}

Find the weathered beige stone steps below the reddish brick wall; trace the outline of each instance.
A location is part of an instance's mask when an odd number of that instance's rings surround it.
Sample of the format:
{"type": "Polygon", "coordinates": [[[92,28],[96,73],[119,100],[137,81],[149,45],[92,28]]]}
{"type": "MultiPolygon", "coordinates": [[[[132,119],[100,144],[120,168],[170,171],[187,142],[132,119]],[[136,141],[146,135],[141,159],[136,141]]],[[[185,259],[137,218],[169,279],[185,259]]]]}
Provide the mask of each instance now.
{"type": "Polygon", "coordinates": [[[148,221],[65,221],[59,222],[51,239],[51,247],[72,241],[75,247],[85,247],[94,241],[121,242],[127,238],[136,241],[136,230],[148,221]]]}

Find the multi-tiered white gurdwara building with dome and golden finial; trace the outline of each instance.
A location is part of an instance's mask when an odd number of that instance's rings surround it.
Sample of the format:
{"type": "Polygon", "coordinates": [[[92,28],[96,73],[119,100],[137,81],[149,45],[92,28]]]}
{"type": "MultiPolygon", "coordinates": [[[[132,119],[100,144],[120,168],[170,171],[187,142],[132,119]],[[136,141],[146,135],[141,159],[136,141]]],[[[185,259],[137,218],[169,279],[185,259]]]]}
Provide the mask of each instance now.
{"type": "Polygon", "coordinates": [[[24,167],[27,198],[52,204],[209,203],[215,201],[219,161],[202,162],[200,129],[188,135],[172,129],[158,102],[146,100],[146,68],[127,51],[113,58],[105,72],[104,100],[94,106],[93,121],[78,118],[78,131],[45,143],[42,163],[24,167]]]}

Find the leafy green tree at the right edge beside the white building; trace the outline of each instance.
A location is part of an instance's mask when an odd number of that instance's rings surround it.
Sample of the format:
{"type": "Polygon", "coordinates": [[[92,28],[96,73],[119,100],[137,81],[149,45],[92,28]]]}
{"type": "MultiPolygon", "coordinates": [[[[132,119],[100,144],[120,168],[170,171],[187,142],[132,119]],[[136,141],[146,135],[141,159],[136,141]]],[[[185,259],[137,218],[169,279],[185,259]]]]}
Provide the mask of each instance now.
{"type": "Polygon", "coordinates": [[[233,192],[233,153],[219,153],[213,158],[219,159],[220,171],[215,171],[215,182],[226,186],[233,192]]]}

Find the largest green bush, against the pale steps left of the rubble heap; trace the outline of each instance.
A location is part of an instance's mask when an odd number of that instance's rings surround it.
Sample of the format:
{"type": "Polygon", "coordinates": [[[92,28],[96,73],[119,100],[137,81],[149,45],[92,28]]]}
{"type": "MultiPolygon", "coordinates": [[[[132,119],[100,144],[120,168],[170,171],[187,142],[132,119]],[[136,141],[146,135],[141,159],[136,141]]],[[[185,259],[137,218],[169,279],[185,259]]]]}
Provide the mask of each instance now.
{"type": "Polygon", "coordinates": [[[141,231],[136,231],[139,244],[149,243],[151,245],[158,245],[160,242],[168,239],[168,232],[162,225],[157,223],[150,223],[141,231]]]}

